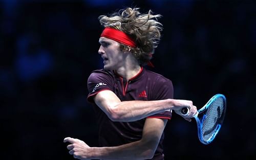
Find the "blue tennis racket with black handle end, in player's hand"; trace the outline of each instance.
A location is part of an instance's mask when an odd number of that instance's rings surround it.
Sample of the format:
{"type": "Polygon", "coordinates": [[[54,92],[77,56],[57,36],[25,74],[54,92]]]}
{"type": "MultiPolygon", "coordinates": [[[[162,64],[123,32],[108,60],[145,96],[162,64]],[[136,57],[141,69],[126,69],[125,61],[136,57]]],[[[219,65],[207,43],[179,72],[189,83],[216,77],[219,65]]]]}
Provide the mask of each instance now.
{"type": "MultiPolygon", "coordinates": [[[[181,109],[181,115],[188,115],[189,108],[181,109]]],[[[224,95],[213,96],[194,118],[197,121],[198,138],[201,143],[211,143],[221,129],[226,112],[226,98],[224,95]]]]}

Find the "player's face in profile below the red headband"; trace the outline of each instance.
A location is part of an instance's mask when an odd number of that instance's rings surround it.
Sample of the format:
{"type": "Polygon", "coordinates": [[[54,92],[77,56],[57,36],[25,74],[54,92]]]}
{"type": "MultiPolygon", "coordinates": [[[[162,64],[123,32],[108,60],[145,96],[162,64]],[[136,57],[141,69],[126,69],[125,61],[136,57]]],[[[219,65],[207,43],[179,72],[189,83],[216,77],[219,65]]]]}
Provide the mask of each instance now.
{"type": "Polygon", "coordinates": [[[112,39],[100,37],[100,48],[98,53],[101,55],[105,70],[117,70],[124,63],[124,54],[120,51],[120,44],[112,39]]]}

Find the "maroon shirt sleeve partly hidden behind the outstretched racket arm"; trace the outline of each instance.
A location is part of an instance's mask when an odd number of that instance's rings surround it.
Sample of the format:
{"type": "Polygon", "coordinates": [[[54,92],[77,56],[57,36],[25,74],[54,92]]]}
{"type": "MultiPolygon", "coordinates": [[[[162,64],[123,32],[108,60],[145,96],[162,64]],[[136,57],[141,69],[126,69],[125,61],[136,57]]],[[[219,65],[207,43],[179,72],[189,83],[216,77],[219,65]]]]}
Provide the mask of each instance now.
{"type": "MultiPolygon", "coordinates": [[[[173,89],[172,81],[168,79],[162,79],[162,80],[158,80],[158,82],[159,83],[157,83],[154,88],[154,93],[155,93],[154,100],[173,99],[174,89],[173,89]]],[[[157,113],[147,118],[161,118],[161,119],[170,120],[172,118],[172,110],[167,109],[164,112],[157,113]]]]}

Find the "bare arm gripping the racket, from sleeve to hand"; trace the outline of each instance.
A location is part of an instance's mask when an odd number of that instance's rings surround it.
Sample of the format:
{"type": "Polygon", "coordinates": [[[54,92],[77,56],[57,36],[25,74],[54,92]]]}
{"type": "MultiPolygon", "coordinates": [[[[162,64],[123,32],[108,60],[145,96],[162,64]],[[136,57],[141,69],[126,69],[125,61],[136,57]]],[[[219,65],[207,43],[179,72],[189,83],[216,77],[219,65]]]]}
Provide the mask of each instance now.
{"type": "Polygon", "coordinates": [[[188,121],[197,113],[197,108],[192,101],[176,99],[120,101],[111,90],[102,90],[97,93],[94,97],[94,102],[112,121],[137,121],[167,109],[176,110],[178,113],[183,107],[189,108],[188,116],[184,117],[188,121]]]}

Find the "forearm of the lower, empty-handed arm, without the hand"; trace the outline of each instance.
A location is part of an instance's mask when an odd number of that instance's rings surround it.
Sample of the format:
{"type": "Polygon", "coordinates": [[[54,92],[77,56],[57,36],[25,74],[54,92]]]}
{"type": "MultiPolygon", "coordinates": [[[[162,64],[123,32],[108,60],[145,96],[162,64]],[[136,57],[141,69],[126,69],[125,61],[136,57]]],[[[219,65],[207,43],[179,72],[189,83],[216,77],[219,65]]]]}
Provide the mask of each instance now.
{"type": "Polygon", "coordinates": [[[95,159],[149,159],[155,153],[155,148],[141,141],[115,147],[92,147],[91,156],[95,159]]]}

